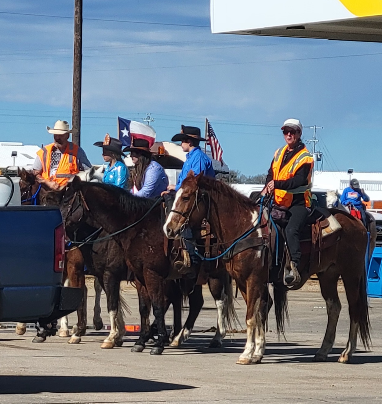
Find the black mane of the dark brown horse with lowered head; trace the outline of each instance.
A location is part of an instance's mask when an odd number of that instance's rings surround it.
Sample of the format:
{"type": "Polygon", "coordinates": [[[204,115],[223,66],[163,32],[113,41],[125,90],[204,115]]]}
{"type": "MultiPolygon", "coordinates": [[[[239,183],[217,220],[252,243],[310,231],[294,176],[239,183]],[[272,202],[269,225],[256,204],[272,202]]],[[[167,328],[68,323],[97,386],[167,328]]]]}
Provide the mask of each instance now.
{"type": "Polygon", "coordinates": [[[106,191],[108,194],[111,194],[111,197],[118,201],[121,209],[127,215],[132,212],[146,213],[146,211],[149,210],[149,208],[151,208],[151,206],[153,206],[153,204],[155,203],[155,199],[134,196],[129,191],[125,191],[125,189],[116,187],[115,185],[81,181],[81,186],[89,188],[100,188],[106,191]]]}

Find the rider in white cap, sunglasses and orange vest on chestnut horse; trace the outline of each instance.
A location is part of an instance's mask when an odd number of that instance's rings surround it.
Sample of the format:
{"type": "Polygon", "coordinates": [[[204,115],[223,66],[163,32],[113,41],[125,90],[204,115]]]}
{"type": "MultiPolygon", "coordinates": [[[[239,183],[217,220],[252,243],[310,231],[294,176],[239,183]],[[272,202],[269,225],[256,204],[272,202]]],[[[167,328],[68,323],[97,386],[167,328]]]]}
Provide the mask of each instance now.
{"type": "Polygon", "coordinates": [[[284,284],[292,286],[301,280],[299,235],[306,223],[312,204],[313,156],[301,142],[302,124],[287,119],[282,125],[286,145],[276,150],[262,194],[274,195],[274,217],[285,215],[286,243],[291,255],[291,269],[284,269],[284,284]]]}

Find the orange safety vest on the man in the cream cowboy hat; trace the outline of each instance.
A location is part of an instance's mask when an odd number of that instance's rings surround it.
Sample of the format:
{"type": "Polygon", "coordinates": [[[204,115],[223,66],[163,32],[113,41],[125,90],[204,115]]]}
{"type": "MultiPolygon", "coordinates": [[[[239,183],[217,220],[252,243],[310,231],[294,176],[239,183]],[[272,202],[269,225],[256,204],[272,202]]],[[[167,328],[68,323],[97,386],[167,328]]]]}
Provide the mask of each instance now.
{"type": "Polygon", "coordinates": [[[50,175],[51,156],[54,143],[42,147],[38,150],[37,156],[41,160],[42,173],[41,176],[44,179],[55,181],[58,185],[66,185],[70,177],[79,173],[79,167],[77,164],[78,146],[72,142],[68,142],[64,153],[61,156],[61,160],[58,163],[57,171],[55,175],[50,175]]]}

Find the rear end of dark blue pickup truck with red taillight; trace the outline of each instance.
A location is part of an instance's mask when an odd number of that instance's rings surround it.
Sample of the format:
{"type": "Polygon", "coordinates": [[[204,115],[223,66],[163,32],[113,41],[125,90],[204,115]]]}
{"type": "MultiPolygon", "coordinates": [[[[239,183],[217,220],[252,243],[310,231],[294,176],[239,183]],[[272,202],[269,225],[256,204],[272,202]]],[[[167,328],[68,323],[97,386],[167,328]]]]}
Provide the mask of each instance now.
{"type": "Polygon", "coordinates": [[[44,326],[77,309],[81,289],[62,287],[64,255],[58,208],[0,207],[0,321],[44,326]]]}

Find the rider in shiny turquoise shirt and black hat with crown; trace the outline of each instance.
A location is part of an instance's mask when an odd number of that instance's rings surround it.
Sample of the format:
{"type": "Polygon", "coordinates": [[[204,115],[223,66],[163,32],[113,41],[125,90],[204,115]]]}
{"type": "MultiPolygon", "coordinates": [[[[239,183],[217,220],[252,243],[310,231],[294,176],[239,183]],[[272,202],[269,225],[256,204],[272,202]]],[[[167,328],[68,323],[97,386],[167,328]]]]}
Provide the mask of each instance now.
{"type": "Polygon", "coordinates": [[[102,181],[105,184],[115,185],[116,187],[127,189],[127,179],[129,178],[129,170],[123,162],[122,142],[115,137],[110,137],[106,133],[103,142],[96,142],[94,146],[102,147],[102,157],[106,163],[102,181]]]}

